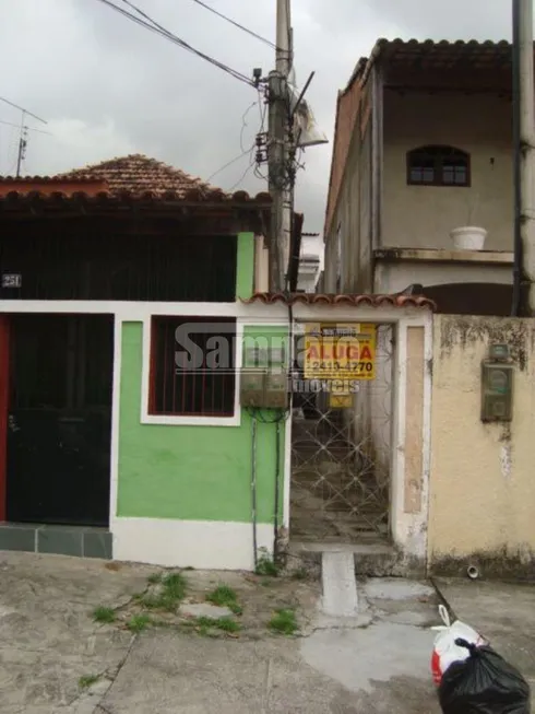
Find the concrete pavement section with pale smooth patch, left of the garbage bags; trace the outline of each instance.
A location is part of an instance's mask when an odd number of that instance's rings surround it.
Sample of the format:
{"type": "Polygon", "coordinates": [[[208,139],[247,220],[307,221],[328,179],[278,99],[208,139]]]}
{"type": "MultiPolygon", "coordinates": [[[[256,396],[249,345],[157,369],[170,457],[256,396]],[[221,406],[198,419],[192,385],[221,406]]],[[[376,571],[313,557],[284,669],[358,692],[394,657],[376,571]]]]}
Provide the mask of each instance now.
{"type": "Polygon", "coordinates": [[[403,581],[360,584],[357,618],[318,616],[299,639],[210,641],[147,632],[100,714],[435,714],[433,592],[403,581]]]}

